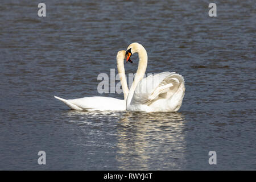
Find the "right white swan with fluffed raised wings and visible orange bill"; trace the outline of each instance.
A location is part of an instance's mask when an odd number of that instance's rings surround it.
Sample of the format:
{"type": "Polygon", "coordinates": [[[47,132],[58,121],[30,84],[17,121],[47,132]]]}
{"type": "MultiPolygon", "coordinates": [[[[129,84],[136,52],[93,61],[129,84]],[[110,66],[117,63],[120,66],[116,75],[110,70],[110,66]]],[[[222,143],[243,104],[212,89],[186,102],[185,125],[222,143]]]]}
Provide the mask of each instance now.
{"type": "Polygon", "coordinates": [[[139,54],[139,65],[129,90],[126,110],[146,112],[175,112],[180,109],[185,93],[184,78],[174,72],[162,72],[146,78],[147,51],[132,43],[126,51],[126,62],[133,53],[139,54]]]}

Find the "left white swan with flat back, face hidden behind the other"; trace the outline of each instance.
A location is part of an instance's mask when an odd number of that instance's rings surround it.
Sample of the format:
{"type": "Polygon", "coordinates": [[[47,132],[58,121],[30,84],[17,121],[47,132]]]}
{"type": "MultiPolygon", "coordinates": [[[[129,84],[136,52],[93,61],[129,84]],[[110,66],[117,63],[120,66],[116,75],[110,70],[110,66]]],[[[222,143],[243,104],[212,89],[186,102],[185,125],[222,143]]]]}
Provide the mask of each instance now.
{"type": "Polygon", "coordinates": [[[54,96],[58,100],[63,101],[67,106],[69,106],[73,110],[125,110],[126,109],[126,98],[129,93],[129,89],[127,86],[127,81],[125,77],[125,67],[123,65],[123,60],[125,59],[125,51],[119,51],[117,53],[117,69],[120,78],[120,82],[123,89],[123,98],[124,100],[119,100],[117,98],[111,97],[84,97],[84,98],[76,98],[72,100],[65,100],[64,98],[60,98],[54,96]]]}

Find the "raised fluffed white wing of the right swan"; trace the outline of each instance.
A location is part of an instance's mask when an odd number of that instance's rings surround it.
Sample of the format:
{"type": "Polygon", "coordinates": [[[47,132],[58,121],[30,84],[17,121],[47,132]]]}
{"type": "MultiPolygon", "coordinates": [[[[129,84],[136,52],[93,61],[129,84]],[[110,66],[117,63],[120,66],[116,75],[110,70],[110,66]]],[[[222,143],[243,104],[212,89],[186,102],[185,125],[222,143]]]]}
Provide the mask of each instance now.
{"type": "Polygon", "coordinates": [[[160,98],[171,98],[181,84],[184,84],[184,78],[174,72],[150,75],[139,82],[131,103],[150,105],[160,98]]]}

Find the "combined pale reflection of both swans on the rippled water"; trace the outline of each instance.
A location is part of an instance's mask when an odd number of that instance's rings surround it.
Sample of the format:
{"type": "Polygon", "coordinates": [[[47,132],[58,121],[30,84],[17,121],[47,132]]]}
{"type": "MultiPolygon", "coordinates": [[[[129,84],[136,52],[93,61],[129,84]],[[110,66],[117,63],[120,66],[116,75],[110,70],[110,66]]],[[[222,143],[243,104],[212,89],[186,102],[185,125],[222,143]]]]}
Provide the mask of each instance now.
{"type": "Polygon", "coordinates": [[[187,134],[183,114],[71,110],[64,114],[86,135],[72,142],[86,148],[96,143],[104,147],[102,151],[108,151],[105,154],[90,154],[104,160],[106,155],[114,156],[115,169],[170,170],[185,166],[187,134]]]}

